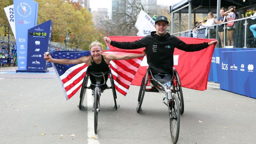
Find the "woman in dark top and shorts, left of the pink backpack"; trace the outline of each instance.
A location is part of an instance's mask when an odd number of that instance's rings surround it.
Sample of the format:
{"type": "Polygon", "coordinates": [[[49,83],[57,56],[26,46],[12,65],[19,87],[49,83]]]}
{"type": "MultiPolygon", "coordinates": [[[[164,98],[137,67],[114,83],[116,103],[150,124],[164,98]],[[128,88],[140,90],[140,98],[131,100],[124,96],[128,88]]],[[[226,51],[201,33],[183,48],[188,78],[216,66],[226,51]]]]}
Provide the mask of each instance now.
{"type": "MultiPolygon", "coordinates": [[[[226,19],[226,16],[224,15],[224,12],[225,12],[225,9],[224,7],[220,9],[220,17],[219,17],[219,20],[218,21],[215,21],[214,22],[216,24],[221,24],[223,22],[227,22],[227,19],[226,19]]],[[[219,25],[219,28],[218,28],[218,34],[220,36],[220,41],[221,41],[221,47],[224,47],[224,24],[222,25],[219,25]]]]}

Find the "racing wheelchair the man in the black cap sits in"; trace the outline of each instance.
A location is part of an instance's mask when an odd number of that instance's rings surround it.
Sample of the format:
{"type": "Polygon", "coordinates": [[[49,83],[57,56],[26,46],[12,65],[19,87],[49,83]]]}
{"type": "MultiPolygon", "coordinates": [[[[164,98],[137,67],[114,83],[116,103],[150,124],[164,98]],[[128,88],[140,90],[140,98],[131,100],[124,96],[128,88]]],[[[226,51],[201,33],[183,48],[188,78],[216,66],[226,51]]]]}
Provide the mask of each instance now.
{"type": "Polygon", "coordinates": [[[172,143],[177,143],[180,132],[180,114],[184,112],[184,101],[181,90],[180,77],[175,68],[172,68],[172,79],[155,79],[151,69],[148,67],[145,76],[142,78],[138,97],[137,112],[142,111],[141,105],[145,92],[163,92],[163,103],[168,106],[170,116],[170,131],[172,143]],[[147,84],[151,89],[146,89],[147,84]]]}

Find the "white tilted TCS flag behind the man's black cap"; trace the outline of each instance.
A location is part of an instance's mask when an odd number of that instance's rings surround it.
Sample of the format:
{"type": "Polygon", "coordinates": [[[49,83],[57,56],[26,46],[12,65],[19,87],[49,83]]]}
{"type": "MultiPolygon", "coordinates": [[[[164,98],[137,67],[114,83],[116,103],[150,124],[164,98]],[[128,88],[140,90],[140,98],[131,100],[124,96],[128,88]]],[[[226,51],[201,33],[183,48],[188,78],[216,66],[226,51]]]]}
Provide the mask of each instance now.
{"type": "Polygon", "coordinates": [[[151,31],[156,31],[155,21],[143,10],[140,11],[135,27],[139,30],[137,36],[147,36],[151,31]]]}

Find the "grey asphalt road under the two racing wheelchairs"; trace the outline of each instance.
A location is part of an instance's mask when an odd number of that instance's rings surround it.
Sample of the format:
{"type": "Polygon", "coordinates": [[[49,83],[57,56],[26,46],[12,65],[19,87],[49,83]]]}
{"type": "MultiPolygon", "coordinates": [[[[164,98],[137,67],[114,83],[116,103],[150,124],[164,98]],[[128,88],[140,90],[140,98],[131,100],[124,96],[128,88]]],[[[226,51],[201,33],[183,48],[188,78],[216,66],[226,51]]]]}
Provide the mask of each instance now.
{"type": "MultiPolygon", "coordinates": [[[[131,86],[125,97],[117,92],[117,110],[112,91],[104,91],[95,135],[90,92],[79,110],[80,91],[65,100],[52,68],[45,74],[15,69],[0,68],[0,143],[172,143],[162,93],[146,92],[137,113],[139,86],[131,86]]],[[[179,144],[255,143],[256,100],[218,88],[212,82],[205,91],[182,88],[179,144]]]]}

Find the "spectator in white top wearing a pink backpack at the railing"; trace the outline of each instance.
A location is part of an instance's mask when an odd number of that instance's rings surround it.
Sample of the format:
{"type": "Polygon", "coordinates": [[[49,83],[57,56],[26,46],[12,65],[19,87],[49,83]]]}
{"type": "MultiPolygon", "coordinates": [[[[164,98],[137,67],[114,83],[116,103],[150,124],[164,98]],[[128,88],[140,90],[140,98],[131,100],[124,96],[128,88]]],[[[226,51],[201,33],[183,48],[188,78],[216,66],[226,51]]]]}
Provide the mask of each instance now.
{"type": "MultiPolygon", "coordinates": [[[[228,11],[223,13],[227,16],[228,19],[236,18],[236,14],[234,13],[234,7],[229,6],[228,11]]],[[[228,46],[234,46],[234,33],[236,30],[236,25],[234,24],[232,27],[227,27],[227,37],[228,37],[228,46]]]]}

